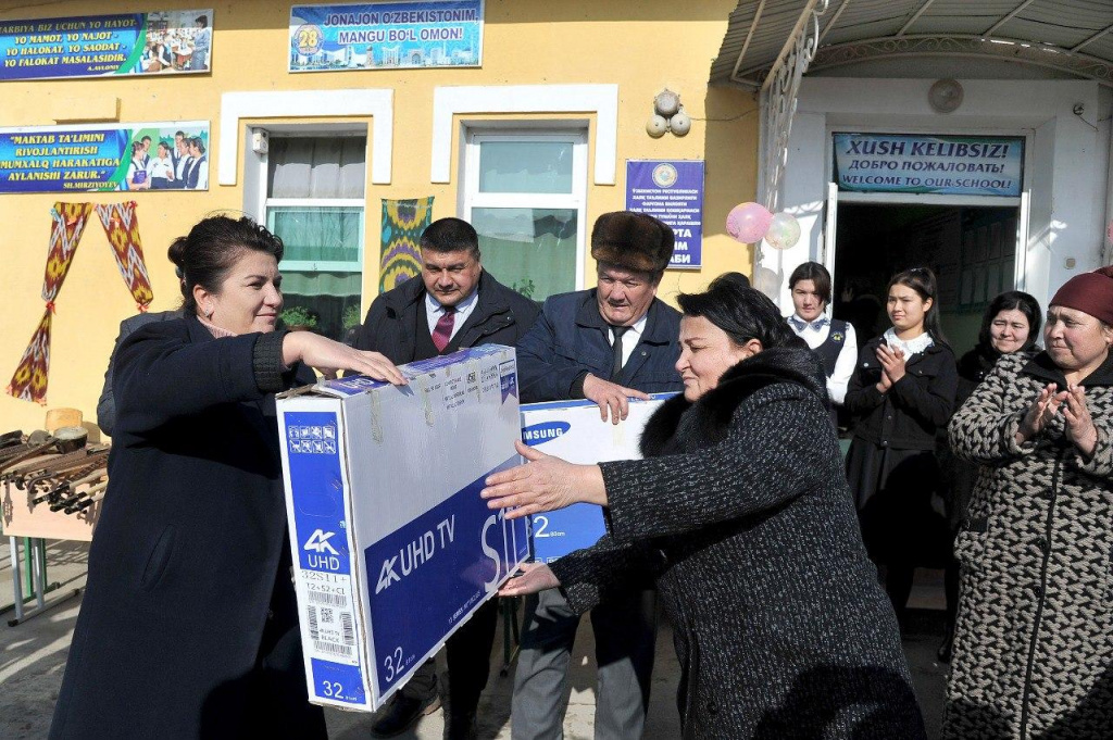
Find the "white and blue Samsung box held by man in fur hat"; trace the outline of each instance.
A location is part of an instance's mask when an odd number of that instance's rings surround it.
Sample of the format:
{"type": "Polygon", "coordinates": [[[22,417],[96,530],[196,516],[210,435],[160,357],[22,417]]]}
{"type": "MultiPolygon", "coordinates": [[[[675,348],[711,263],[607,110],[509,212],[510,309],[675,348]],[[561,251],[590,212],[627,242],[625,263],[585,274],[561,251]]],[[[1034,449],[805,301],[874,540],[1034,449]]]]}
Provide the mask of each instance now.
{"type": "MultiPolygon", "coordinates": [[[[522,405],[522,442],[546,455],[590,465],[612,460],[638,460],[638,443],[646,422],[670,398],[654,394],[650,401],[630,399],[630,413],[618,424],[604,422],[590,401],[553,401],[522,405]]],[[[607,532],[603,513],[593,504],[572,504],[531,519],[533,559],[551,563],[581,547],[590,547],[607,532]]]]}

